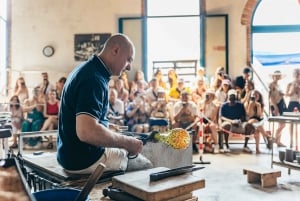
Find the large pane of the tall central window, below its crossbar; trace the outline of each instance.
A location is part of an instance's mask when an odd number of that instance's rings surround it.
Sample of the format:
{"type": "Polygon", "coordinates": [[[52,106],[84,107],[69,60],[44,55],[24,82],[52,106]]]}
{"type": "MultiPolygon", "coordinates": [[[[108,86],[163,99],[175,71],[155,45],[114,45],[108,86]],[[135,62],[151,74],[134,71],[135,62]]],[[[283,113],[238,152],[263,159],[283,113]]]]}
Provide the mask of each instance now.
{"type": "Polygon", "coordinates": [[[148,18],[148,75],[153,61],[200,59],[199,17],[148,18]]]}

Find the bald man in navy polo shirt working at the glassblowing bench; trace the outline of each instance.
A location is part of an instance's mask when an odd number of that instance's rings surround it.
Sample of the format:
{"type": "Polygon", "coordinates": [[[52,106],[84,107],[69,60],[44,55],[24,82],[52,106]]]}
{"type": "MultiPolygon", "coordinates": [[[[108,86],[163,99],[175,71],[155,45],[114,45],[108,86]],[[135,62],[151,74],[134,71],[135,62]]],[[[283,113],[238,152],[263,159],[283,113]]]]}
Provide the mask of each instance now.
{"type": "Polygon", "coordinates": [[[111,76],[129,71],[135,56],[131,40],[111,36],[99,55],[77,66],[68,76],[61,96],[57,160],[73,174],[90,174],[99,163],[106,170],[137,170],[152,167],[139,154],[142,141],[108,129],[108,82],[111,76]],[[137,155],[128,160],[127,155],[137,155]],[[137,165],[137,161],[139,165],[137,165]]]}

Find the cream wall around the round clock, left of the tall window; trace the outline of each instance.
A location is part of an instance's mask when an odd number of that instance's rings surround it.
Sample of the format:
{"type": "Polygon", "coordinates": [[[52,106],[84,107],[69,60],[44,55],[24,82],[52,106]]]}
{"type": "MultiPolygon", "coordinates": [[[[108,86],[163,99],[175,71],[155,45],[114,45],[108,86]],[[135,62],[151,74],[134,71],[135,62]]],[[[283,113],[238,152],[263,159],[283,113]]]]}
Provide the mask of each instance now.
{"type": "MultiPolygon", "coordinates": [[[[19,71],[67,75],[78,64],[74,34],[116,33],[119,17],[140,16],[140,12],[141,0],[12,0],[12,85],[19,71]],[[55,48],[52,57],[43,56],[46,45],[55,48]]],[[[50,74],[50,81],[56,82],[59,76],[50,74]]]]}

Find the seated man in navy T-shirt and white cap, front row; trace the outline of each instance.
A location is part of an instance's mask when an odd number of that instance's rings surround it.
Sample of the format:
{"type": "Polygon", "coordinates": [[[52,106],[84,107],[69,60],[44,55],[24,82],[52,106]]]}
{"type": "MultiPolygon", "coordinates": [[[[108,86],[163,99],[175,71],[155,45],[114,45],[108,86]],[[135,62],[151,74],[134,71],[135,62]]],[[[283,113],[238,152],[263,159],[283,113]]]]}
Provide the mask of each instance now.
{"type": "Polygon", "coordinates": [[[219,139],[220,152],[229,152],[229,133],[241,133],[246,135],[244,143],[244,151],[247,153],[252,153],[251,149],[247,146],[249,137],[248,135],[255,132],[255,128],[252,124],[246,121],[246,111],[244,105],[237,100],[237,92],[234,89],[228,91],[229,101],[223,103],[220,108],[220,120],[221,131],[220,137],[225,136],[226,148],[223,149],[223,142],[219,139]]]}

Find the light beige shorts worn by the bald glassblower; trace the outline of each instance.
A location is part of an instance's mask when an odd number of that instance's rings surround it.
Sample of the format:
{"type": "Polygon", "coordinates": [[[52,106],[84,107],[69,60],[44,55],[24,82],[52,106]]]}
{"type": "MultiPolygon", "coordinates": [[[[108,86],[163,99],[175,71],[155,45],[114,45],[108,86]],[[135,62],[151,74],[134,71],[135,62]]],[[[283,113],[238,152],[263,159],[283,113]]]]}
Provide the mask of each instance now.
{"type": "Polygon", "coordinates": [[[93,165],[82,170],[65,170],[71,174],[91,174],[99,163],[105,165],[105,171],[126,170],[128,157],[125,149],[105,148],[105,152],[93,165]]]}

